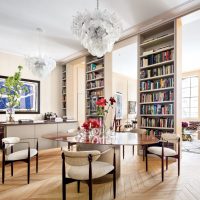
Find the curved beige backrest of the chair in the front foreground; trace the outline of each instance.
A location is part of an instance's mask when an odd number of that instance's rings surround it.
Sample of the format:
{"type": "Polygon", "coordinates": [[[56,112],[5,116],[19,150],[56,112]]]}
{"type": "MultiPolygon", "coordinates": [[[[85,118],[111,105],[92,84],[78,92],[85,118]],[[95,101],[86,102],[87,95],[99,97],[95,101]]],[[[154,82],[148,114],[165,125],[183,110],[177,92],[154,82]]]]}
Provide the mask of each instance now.
{"type": "Polygon", "coordinates": [[[72,166],[88,165],[89,164],[89,161],[88,161],[89,154],[92,155],[92,161],[97,160],[101,155],[101,152],[97,151],[97,150],[93,150],[93,151],[66,151],[66,150],[63,150],[63,153],[66,157],[65,162],[68,165],[72,165],[72,166]]]}

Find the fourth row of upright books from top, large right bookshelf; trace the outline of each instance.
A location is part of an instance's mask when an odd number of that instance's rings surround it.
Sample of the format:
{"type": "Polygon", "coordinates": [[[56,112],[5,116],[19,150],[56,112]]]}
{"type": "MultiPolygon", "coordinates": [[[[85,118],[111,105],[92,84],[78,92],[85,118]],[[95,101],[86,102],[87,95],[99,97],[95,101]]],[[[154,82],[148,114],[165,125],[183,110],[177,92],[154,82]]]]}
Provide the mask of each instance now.
{"type": "Polygon", "coordinates": [[[142,93],[140,95],[140,102],[157,102],[157,101],[173,101],[174,91],[155,92],[155,93],[142,93]]]}

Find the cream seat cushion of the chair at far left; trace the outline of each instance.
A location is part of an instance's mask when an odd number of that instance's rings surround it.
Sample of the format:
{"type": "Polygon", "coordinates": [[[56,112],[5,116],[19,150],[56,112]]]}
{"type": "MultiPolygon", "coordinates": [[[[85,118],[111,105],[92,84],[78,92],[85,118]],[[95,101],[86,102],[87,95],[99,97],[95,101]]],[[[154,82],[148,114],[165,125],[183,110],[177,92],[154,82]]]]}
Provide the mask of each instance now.
{"type": "MultiPolygon", "coordinates": [[[[36,149],[30,149],[30,157],[33,157],[37,154],[36,149]]],[[[28,158],[28,149],[16,151],[9,155],[6,155],[6,160],[23,160],[28,158]]]]}

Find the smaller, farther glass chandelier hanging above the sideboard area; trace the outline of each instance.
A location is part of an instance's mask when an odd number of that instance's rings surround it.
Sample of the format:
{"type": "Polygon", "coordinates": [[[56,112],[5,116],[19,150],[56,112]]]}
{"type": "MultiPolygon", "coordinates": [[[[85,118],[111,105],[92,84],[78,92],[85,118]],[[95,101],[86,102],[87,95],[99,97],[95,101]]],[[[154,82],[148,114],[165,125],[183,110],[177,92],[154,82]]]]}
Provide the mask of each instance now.
{"type": "Polygon", "coordinates": [[[38,32],[39,55],[26,57],[26,66],[34,75],[44,78],[56,67],[56,61],[48,56],[41,55],[40,34],[43,32],[43,30],[41,28],[37,28],[36,31],[38,32]]]}

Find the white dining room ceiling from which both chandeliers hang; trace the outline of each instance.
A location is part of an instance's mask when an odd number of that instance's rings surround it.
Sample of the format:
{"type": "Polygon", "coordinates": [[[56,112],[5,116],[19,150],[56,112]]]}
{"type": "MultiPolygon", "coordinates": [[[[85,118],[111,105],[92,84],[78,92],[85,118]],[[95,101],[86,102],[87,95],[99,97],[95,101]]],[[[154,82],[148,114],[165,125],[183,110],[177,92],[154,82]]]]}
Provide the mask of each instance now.
{"type": "MultiPolygon", "coordinates": [[[[100,9],[114,11],[129,29],[192,0],[100,0],[100,9]]],[[[42,28],[41,50],[56,60],[83,47],[71,32],[72,16],[93,10],[95,0],[1,0],[0,51],[33,55],[38,49],[35,29],[42,28]]]]}

